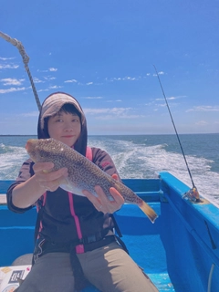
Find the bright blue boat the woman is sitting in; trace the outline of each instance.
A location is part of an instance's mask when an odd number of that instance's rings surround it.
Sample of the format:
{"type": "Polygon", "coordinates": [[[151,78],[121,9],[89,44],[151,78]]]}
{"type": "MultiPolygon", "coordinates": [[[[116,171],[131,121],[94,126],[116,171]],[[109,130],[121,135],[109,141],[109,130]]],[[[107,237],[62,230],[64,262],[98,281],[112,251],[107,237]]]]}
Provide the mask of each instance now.
{"type": "MultiPolygon", "coordinates": [[[[0,292],[12,292],[31,269],[36,208],[25,214],[7,209],[12,181],[0,181],[0,292]]],[[[130,256],[160,292],[219,291],[219,208],[170,172],[152,179],[125,179],[130,189],[159,215],[154,224],[136,205],[124,204],[115,218],[130,256]]],[[[86,287],[83,292],[98,292],[86,287]]]]}

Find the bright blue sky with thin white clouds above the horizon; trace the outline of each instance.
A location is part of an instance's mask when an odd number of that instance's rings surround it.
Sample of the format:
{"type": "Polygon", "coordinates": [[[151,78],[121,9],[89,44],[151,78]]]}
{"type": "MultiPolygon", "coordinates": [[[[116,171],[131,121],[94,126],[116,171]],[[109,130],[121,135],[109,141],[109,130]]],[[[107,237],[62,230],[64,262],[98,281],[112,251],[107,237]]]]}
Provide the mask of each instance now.
{"type": "MultiPolygon", "coordinates": [[[[22,42],[42,102],[83,107],[89,134],[219,132],[219,1],[5,0],[0,31],[22,42]]],[[[0,134],[36,134],[22,58],[0,38],[0,134]]]]}

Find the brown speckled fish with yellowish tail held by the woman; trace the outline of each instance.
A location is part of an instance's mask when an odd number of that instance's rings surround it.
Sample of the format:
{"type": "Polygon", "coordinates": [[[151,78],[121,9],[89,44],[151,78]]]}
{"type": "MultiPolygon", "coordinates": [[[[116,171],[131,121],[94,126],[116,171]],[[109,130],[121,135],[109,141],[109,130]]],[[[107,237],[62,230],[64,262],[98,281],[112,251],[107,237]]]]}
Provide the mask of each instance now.
{"type": "Polygon", "coordinates": [[[53,162],[52,171],[62,167],[68,168],[66,183],[60,185],[64,190],[78,195],[84,195],[82,191],[88,190],[97,196],[95,186],[99,185],[112,201],[114,199],[110,194],[110,187],[114,187],[122,195],[125,203],[137,204],[152,223],[158,217],[153,209],[130,188],[114,180],[108,173],[103,172],[96,164],[66,144],[54,139],[30,139],[26,142],[26,151],[33,162],[53,162]]]}

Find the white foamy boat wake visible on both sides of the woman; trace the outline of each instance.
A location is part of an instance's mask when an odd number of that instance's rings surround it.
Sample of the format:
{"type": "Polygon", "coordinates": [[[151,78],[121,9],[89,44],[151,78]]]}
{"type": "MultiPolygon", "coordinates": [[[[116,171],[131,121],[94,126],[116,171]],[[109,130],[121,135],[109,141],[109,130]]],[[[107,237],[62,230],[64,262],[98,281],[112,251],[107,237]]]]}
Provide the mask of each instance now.
{"type": "MultiPolygon", "coordinates": [[[[89,146],[108,151],[121,178],[154,178],[159,172],[171,172],[192,187],[182,153],[166,151],[166,144],[147,146],[127,140],[92,137],[89,146]]],[[[0,144],[0,180],[15,180],[28,155],[24,147],[0,144]]],[[[219,173],[211,172],[212,161],[186,155],[193,182],[199,193],[219,206],[219,173]]]]}

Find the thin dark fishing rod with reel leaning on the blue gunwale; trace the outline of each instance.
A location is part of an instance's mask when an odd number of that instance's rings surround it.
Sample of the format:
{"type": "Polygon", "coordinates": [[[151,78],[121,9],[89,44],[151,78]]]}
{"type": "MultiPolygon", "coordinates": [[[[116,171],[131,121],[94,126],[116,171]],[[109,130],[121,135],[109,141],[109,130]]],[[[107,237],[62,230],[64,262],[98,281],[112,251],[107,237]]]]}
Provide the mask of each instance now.
{"type": "Polygon", "coordinates": [[[190,197],[192,200],[195,199],[195,201],[198,201],[199,200],[199,193],[197,191],[197,188],[195,187],[194,183],[193,183],[193,176],[192,176],[192,173],[190,172],[190,168],[189,168],[189,165],[188,165],[188,162],[186,160],[186,157],[185,157],[185,154],[184,154],[184,151],[183,151],[183,146],[182,146],[182,143],[180,141],[180,137],[178,135],[178,132],[176,130],[176,126],[175,126],[175,123],[174,123],[174,120],[172,119],[172,112],[170,110],[170,107],[169,107],[169,104],[168,104],[168,101],[167,101],[167,98],[166,98],[166,95],[165,95],[165,92],[164,92],[164,89],[162,87],[162,81],[161,81],[161,78],[159,77],[159,74],[158,74],[158,71],[157,71],[157,68],[153,65],[154,69],[155,69],[155,72],[156,72],[156,75],[157,75],[157,78],[159,80],[159,83],[160,83],[160,86],[161,86],[161,89],[162,89],[162,95],[165,99],[165,102],[166,102],[166,106],[167,106],[167,109],[169,111],[169,114],[171,116],[171,120],[172,120],[172,125],[173,125],[173,128],[175,130],[175,133],[176,133],[176,137],[177,137],[177,140],[180,144],[180,148],[181,148],[181,151],[183,153],[183,159],[184,159],[184,162],[185,162],[185,165],[187,167],[187,171],[189,172],[189,176],[190,176],[190,179],[191,179],[191,182],[193,184],[193,189],[191,189],[189,192],[185,193],[184,196],[188,196],[190,197]]]}

